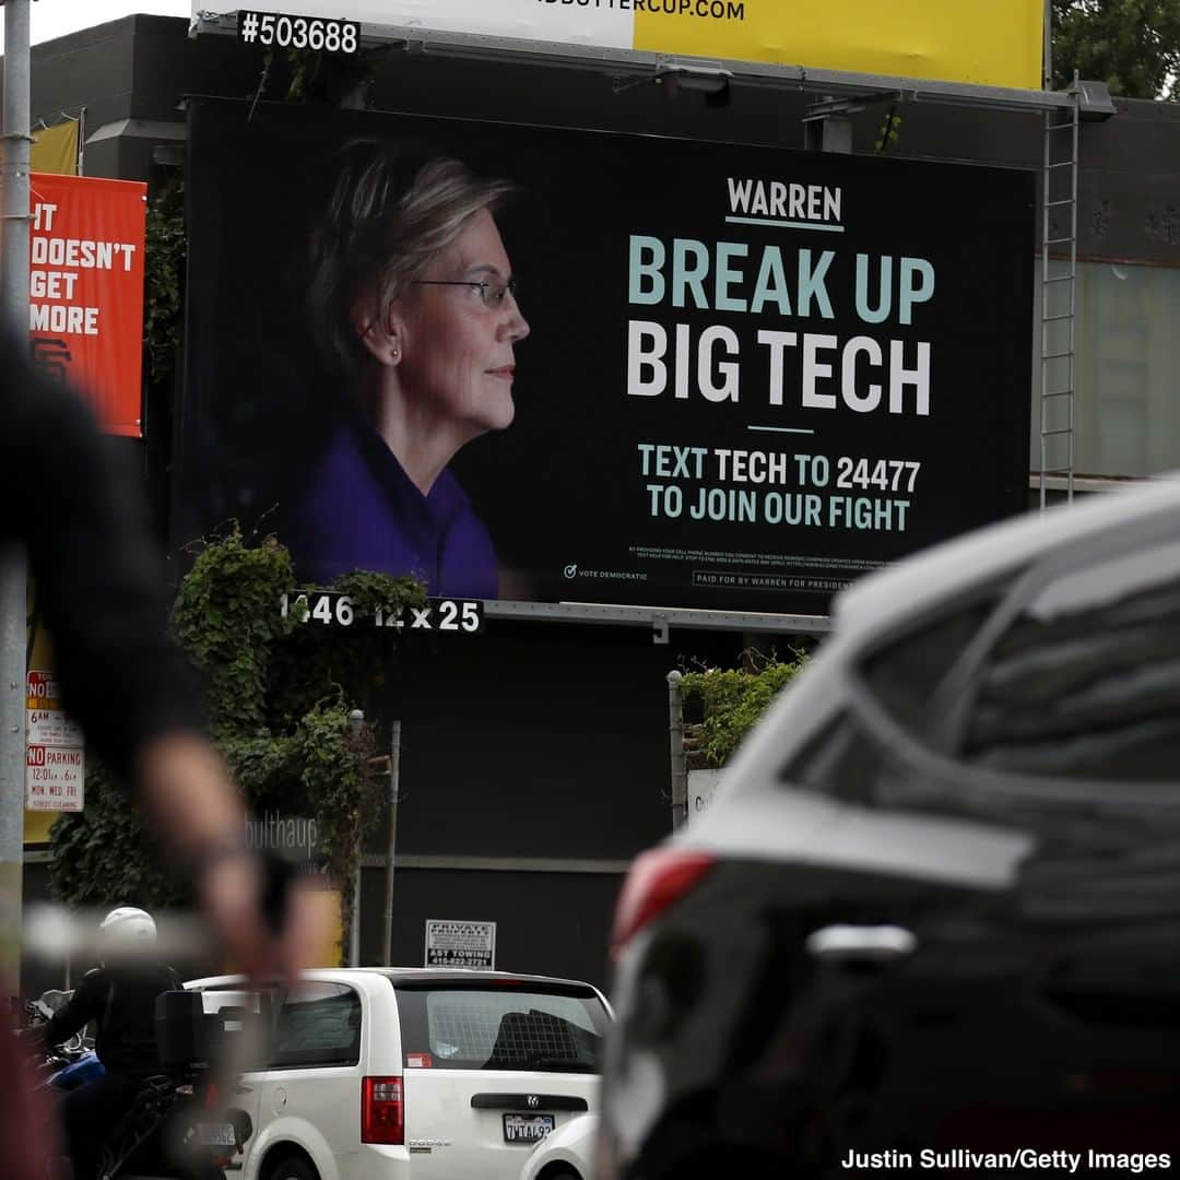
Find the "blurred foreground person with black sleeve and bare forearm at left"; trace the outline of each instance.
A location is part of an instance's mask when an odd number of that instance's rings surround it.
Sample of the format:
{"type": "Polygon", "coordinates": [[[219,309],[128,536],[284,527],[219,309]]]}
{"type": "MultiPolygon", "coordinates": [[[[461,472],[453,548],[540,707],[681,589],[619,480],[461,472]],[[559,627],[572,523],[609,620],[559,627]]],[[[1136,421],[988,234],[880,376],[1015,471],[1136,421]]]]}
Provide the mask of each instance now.
{"type": "MultiPolygon", "coordinates": [[[[289,977],[326,940],[322,897],[248,846],[242,796],[168,638],[170,595],[142,497],[81,401],[33,374],[27,347],[0,335],[0,546],[27,546],[65,707],[135,792],[227,957],[256,979],[289,977]]],[[[12,1180],[45,1174],[35,1103],[12,1084],[19,1068],[0,1030],[0,1159],[12,1180]]]]}

